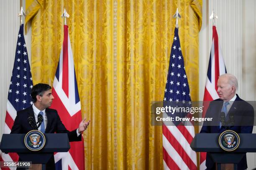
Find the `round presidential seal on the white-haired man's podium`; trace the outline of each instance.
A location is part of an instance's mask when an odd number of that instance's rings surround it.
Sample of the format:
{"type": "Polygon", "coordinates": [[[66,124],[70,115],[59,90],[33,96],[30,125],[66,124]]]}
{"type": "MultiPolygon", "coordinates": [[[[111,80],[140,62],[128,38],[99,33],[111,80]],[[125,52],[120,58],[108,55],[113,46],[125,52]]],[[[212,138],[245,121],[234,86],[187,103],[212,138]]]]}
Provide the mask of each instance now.
{"type": "Polygon", "coordinates": [[[233,130],[226,130],[220,134],[219,137],[220,148],[226,151],[233,151],[238,148],[240,144],[240,138],[233,130]]]}

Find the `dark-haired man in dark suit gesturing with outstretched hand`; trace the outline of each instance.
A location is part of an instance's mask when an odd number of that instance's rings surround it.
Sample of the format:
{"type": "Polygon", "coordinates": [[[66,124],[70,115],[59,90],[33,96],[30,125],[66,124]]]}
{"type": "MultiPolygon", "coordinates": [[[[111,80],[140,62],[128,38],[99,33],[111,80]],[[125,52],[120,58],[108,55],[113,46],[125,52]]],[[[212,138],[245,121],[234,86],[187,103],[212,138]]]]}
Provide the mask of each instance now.
{"type": "MultiPolygon", "coordinates": [[[[11,133],[28,133],[33,128],[28,124],[28,117],[33,117],[33,122],[37,122],[38,114],[41,114],[44,121],[38,127],[42,133],[67,133],[69,141],[81,141],[81,133],[87,129],[90,120],[85,122],[85,119],[79,123],[78,128],[73,131],[68,131],[62,124],[58,112],[48,107],[51,106],[54,96],[51,94],[51,86],[39,83],[31,89],[31,97],[33,105],[17,112],[11,133]]],[[[81,148],[84,149],[84,148],[81,148]]],[[[46,164],[46,169],[55,169],[54,155],[46,164]]]]}

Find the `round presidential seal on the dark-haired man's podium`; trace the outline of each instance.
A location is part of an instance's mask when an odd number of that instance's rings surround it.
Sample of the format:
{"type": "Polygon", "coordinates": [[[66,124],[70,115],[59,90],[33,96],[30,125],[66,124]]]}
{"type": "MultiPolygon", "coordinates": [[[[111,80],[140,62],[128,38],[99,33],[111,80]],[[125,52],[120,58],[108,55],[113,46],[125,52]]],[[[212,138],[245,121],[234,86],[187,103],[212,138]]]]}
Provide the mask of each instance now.
{"type": "Polygon", "coordinates": [[[45,144],[45,136],[44,133],[41,133],[38,130],[29,131],[24,138],[25,146],[29,150],[38,151],[44,148],[45,144]]]}

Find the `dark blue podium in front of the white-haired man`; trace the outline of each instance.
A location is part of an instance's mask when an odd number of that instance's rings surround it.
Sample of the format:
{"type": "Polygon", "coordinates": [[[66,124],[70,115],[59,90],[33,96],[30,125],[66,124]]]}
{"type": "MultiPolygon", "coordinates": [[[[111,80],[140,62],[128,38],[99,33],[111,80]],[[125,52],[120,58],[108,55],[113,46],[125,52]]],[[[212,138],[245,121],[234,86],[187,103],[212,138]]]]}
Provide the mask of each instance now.
{"type": "Polygon", "coordinates": [[[217,163],[218,170],[222,163],[234,164],[234,170],[237,170],[237,164],[246,155],[246,153],[256,153],[256,134],[240,133],[240,145],[234,151],[225,151],[220,148],[218,139],[219,133],[198,133],[192,140],[190,147],[195,152],[207,152],[212,160],[217,163]]]}

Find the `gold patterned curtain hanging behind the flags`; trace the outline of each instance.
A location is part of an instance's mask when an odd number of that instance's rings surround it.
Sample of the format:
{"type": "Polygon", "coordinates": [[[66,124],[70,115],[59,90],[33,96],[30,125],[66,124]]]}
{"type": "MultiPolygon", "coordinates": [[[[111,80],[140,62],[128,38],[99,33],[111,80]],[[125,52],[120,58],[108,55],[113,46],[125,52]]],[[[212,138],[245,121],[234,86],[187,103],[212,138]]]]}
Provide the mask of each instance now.
{"type": "MultiPolygon", "coordinates": [[[[179,37],[192,100],[198,100],[198,32],[202,0],[34,0],[33,82],[52,85],[66,7],[82,117],[85,168],[163,169],[161,126],[151,126],[151,101],[161,101],[174,37],[179,37]]],[[[26,25],[27,26],[27,25],[26,25]]]]}

